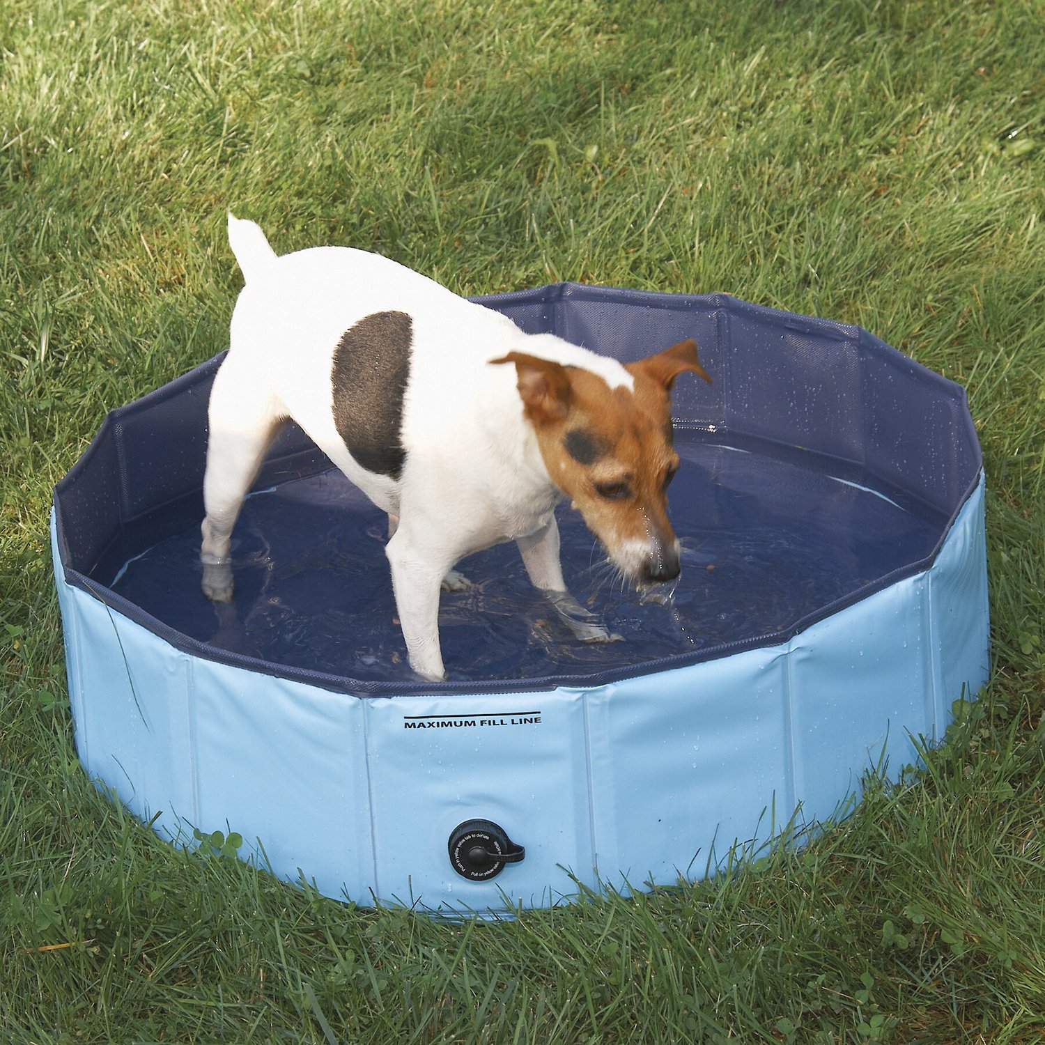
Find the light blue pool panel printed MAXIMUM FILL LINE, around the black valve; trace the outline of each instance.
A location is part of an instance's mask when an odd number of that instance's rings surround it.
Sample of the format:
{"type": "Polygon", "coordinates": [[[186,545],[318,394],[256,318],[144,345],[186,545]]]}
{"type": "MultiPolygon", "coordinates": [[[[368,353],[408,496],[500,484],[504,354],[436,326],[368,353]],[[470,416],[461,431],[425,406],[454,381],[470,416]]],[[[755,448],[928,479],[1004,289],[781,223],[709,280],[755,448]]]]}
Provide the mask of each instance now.
{"type": "Polygon", "coordinates": [[[378,899],[425,909],[548,906],[594,884],[584,691],[365,702],[378,899]],[[488,882],[450,868],[447,841],[487,819],[526,847],[488,882]]]}

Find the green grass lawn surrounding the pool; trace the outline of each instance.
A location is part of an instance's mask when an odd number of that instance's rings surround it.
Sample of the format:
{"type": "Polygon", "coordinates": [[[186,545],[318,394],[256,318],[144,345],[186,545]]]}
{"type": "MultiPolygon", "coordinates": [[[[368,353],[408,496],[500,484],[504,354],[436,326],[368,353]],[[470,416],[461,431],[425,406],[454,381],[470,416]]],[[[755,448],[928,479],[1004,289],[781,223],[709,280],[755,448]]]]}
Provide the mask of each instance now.
{"type": "Polygon", "coordinates": [[[1043,26],[1037,0],[5,0],[0,1039],[1041,1041],[1043,26]],[[107,410],[224,347],[229,208],[460,293],[729,291],[962,382],[982,699],[800,854],[513,924],[160,843],[78,768],[47,512],[107,410]]]}

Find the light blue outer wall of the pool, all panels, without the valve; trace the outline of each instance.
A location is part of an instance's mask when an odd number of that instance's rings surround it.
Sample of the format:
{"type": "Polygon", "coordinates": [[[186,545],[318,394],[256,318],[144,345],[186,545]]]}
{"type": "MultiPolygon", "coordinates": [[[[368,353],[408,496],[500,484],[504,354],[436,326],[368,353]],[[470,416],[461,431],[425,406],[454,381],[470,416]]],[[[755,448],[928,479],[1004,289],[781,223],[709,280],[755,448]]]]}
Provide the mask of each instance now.
{"type": "Polygon", "coordinates": [[[278,876],[364,904],[497,912],[700,878],[796,810],[831,818],[868,770],[895,777],[989,671],[982,477],[929,570],[786,644],[588,689],[329,692],[192,657],[56,574],[89,775],[164,837],[237,831],[278,876]],[[446,856],[474,816],[527,851],[490,882],[446,856]]]}

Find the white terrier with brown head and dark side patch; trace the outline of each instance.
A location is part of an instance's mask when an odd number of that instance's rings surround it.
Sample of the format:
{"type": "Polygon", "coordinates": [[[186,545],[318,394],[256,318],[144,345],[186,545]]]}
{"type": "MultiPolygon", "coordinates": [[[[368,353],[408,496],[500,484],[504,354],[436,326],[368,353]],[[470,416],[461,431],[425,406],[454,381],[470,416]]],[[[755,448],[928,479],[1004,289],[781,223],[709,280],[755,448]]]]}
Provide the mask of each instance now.
{"type": "Polygon", "coordinates": [[[405,266],[343,247],[278,257],[229,214],[246,280],[214,379],[204,479],[203,590],[228,602],[230,540],[265,451],[291,419],[389,516],[386,549],[412,669],[445,677],[443,587],[465,556],[514,540],[578,637],[611,636],[566,591],[555,507],[566,497],[624,578],[679,572],[667,512],[678,468],[669,393],[696,343],[621,364],[405,266]]]}

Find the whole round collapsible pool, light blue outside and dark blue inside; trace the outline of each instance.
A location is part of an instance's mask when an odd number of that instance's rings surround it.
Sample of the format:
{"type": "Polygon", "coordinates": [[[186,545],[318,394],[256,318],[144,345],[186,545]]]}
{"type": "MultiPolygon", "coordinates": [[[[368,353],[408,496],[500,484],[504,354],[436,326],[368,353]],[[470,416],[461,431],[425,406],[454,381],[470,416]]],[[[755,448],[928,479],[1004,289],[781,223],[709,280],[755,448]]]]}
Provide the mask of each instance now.
{"type": "Polygon", "coordinates": [[[175,840],[362,904],[497,913],[713,873],[849,807],[989,666],[965,393],[858,327],[725,295],[557,284],[479,299],[622,359],[693,336],[673,395],[673,595],[622,590],[579,519],[563,567],[621,641],[575,642],[514,545],[443,595],[448,680],[405,665],[384,516],[293,428],[198,565],[219,358],[114,411],[55,488],[76,745],[175,840]]]}

